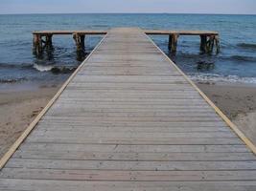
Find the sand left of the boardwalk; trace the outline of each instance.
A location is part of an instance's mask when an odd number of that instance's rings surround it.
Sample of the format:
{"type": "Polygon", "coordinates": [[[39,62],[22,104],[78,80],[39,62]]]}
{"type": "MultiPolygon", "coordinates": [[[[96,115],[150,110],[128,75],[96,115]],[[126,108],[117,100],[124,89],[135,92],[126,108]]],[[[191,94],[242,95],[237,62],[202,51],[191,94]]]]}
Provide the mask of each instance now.
{"type": "Polygon", "coordinates": [[[0,92],[0,157],[57,93],[58,88],[0,92]]]}

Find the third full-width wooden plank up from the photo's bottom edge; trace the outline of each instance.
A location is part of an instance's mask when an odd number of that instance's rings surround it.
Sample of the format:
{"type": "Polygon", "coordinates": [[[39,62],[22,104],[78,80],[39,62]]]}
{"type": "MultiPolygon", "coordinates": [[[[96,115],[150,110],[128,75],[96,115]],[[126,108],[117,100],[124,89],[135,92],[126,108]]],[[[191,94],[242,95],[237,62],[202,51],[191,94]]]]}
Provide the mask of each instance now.
{"type": "Polygon", "coordinates": [[[99,161],[11,159],[7,168],[122,171],[256,170],[254,161],[99,161]]]}

